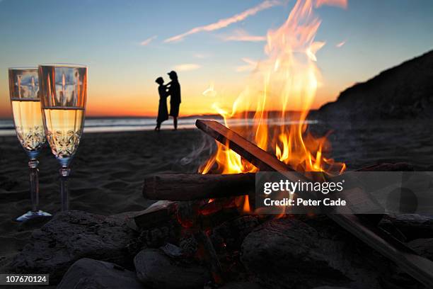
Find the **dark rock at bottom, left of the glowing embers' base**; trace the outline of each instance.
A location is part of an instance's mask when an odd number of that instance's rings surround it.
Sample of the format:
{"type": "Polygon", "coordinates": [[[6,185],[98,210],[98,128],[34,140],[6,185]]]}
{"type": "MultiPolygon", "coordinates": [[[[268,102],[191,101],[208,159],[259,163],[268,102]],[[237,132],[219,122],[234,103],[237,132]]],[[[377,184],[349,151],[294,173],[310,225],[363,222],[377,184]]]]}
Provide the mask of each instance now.
{"type": "Polygon", "coordinates": [[[206,268],[177,264],[158,249],[144,249],[134,258],[137,277],[151,288],[203,288],[211,280],[206,268]]]}

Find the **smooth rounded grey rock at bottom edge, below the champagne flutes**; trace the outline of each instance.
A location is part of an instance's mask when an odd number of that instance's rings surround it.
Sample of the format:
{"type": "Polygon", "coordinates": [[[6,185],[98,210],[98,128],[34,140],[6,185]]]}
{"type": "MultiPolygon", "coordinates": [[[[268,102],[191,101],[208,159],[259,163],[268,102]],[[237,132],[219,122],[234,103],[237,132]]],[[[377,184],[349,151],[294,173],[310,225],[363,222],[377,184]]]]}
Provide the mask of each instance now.
{"type": "Polygon", "coordinates": [[[142,289],[134,272],[115,263],[83,258],[76,261],[64,274],[57,289],[142,289]]]}

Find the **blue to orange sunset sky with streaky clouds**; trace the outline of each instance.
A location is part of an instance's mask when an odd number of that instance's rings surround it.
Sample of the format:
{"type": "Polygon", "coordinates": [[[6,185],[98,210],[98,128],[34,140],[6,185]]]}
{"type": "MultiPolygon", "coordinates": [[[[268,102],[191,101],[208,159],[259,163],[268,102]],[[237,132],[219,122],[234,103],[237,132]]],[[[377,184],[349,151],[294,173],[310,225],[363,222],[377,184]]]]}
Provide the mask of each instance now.
{"type": "MultiPolygon", "coordinates": [[[[214,113],[262,60],[267,30],[295,1],[0,0],[0,117],[11,116],[7,68],[89,67],[87,115],[155,115],[154,80],[176,70],[181,115],[214,113]],[[202,92],[214,84],[217,94],[202,92]]],[[[355,82],[433,49],[433,1],[349,0],[323,6],[316,40],[323,74],[313,108],[355,82]]]]}

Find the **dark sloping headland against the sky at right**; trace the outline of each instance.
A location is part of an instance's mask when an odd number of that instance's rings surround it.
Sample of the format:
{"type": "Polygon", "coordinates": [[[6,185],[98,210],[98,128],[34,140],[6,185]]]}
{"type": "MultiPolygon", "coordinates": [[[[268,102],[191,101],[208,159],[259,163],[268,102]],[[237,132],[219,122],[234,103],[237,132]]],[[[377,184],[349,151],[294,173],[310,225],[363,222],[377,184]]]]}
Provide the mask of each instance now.
{"type": "Polygon", "coordinates": [[[328,120],[430,118],[433,112],[433,51],[342,91],[319,115],[328,120]]]}

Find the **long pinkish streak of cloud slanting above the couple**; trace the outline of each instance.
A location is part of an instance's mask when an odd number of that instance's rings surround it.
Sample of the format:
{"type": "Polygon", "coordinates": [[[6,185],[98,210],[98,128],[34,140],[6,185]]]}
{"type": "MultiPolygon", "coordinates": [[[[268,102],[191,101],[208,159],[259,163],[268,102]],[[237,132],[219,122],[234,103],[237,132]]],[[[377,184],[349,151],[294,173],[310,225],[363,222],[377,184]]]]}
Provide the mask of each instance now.
{"type": "Polygon", "coordinates": [[[189,30],[185,33],[175,35],[171,38],[167,38],[166,40],[164,40],[164,42],[166,42],[166,43],[177,42],[177,41],[183,40],[183,38],[185,38],[188,35],[199,33],[202,31],[208,31],[209,32],[209,31],[219,30],[219,29],[225,28],[225,27],[227,27],[233,23],[243,21],[247,17],[253,16],[262,10],[272,8],[273,6],[277,6],[277,5],[281,5],[281,2],[278,0],[266,0],[266,1],[263,1],[262,3],[258,4],[257,6],[254,6],[253,8],[249,8],[246,11],[238,13],[234,16],[231,16],[229,18],[220,19],[219,21],[214,22],[212,24],[209,24],[207,26],[198,26],[196,28],[192,28],[191,30],[189,30]]]}

